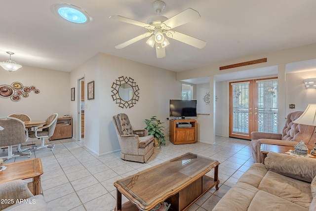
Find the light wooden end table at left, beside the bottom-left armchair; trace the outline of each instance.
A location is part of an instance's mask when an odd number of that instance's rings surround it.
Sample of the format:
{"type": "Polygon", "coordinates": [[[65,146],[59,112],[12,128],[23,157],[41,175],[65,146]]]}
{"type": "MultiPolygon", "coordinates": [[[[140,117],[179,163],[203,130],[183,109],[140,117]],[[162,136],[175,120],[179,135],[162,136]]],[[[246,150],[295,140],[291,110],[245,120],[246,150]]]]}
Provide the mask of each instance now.
{"type": "Polygon", "coordinates": [[[33,178],[28,187],[33,195],[40,194],[40,175],[43,174],[40,158],[3,164],[7,168],[0,172],[0,183],[17,179],[33,178]]]}

